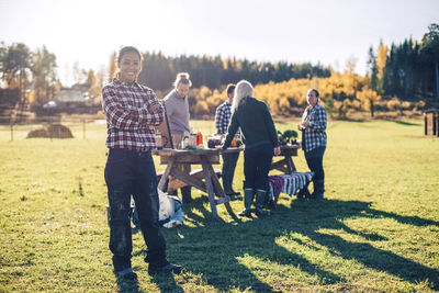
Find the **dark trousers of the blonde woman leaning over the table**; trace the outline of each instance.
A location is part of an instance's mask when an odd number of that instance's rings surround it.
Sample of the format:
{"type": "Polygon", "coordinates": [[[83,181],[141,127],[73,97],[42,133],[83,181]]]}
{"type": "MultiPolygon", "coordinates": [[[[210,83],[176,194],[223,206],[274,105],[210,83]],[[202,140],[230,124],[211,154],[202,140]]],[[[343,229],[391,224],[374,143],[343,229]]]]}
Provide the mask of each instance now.
{"type": "Polygon", "coordinates": [[[261,144],[244,150],[244,189],[267,190],[268,172],[273,158],[271,143],[261,144]]]}

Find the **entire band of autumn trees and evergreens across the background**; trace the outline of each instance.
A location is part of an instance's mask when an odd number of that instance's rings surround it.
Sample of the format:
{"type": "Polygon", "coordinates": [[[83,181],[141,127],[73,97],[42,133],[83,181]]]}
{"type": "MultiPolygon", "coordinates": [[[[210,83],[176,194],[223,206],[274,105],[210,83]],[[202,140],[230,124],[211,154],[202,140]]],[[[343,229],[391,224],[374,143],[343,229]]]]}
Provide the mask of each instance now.
{"type": "MultiPolygon", "coordinates": [[[[255,94],[270,106],[274,115],[296,113],[306,103],[309,87],[322,92],[325,105],[339,117],[349,111],[419,109],[425,101],[439,99],[439,24],[431,24],[418,42],[407,38],[390,47],[382,42],[368,50],[368,72],[354,74],[356,61],[349,59],[342,72],[320,64],[258,63],[221,56],[165,56],[160,52],[143,53],[139,82],[162,98],[171,88],[177,72],[191,75],[191,113],[213,115],[225,100],[227,83],[247,79],[255,94]],[[404,101],[403,101],[404,100],[404,101]]],[[[85,70],[75,65],[76,82],[90,84],[90,97],[100,103],[104,76],[115,71],[115,53],[108,72],[85,70]]],[[[56,56],[46,47],[31,52],[24,44],[0,43],[0,79],[3,88],[19,88],[34,104],[53,100],[63,87],[56,75],[56,56]]]]}

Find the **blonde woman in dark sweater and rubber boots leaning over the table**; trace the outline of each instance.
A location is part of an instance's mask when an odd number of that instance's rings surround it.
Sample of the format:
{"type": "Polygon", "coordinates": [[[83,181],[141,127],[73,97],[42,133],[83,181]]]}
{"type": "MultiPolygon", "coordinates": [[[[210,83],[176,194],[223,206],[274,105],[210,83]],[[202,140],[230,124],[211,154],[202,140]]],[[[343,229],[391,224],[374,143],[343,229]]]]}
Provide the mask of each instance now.
{"type": "Polygon", "coordinates": [[[232,104],[232,119],[223,149],[230,146],[240,127],[244,150],[244,211],[239,216],[251,217],[251,203],[256,193],[256,215],[262,216],[267,193],[267,177],[274,155],[280,155],[278,135],[266,103],[252,98],[254,88],[247,80],[236,84],[232,104]]]}

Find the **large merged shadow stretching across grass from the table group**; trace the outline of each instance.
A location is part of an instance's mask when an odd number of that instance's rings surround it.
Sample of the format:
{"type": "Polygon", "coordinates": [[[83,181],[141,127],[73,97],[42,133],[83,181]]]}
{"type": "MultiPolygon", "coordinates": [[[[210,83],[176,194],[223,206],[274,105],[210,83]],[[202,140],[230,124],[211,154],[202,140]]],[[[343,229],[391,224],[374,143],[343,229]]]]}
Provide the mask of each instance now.
{"type": "Polygon", "coordinates": [[[275,288],[261,281],[267,274],[272,275],[268,279],[273,280],[277,272],[282,275],[292,275],[294,271],[305,272],[301,282],[309,284],[345,281],[344,277],[322,269],[315,260],[309,261],[303,252],[295,251],[296,247],[311,249],[311,253],[329,252],[337,258],[353,259],[370,269],[389,272],[412,283],[428,279],[430,285],[438,289],[439,271],[373,247],[369,241],[386,238],[376,233],[353,230],[342,221],[352,217],[384,217],[415,226],[438,226],[438,222],[373,210],[370,203],[360,201],[295,200],[291,207],[280,205],[278,211],[266,218],[230,223],[212,219],[210,211],[204,206],[205,202],[203,205],[203,201],[200,201],[185,209],[185,221],[193,227],[166,230],[168,255],[171,260],[184,264],[187,272],[200,275],[203,283],[217,290],[288,290],[282,286],[282,281],[274,281],[275,288]],[[322,229],[344,230],[365,240],[347,241],[322,229]],[[290,247],[284,246],[281,238],[286,238],[290,247]]]}

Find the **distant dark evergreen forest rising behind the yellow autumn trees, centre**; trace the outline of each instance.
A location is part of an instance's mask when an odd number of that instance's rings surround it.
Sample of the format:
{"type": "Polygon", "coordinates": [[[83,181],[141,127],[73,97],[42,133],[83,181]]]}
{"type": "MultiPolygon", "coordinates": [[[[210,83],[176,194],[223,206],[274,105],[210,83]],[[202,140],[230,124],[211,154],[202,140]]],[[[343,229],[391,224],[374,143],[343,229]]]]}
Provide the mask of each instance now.
{"type": "Polygon", "coordinates": [[[246,79],[251,83],[281,82],[291,78],[329,77],[330,68],[323,65],[258,63],[247,59],[225,58],[221,56],[185,56],[167,57],[161,53],[145,53],[144,70],[139,75],[139,82],[155,90],[167,90],[171,87],[178,72],[189,72],[192,86],[210,89],[246,79]]]}

